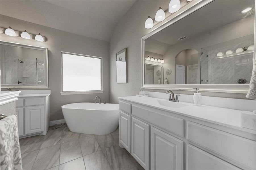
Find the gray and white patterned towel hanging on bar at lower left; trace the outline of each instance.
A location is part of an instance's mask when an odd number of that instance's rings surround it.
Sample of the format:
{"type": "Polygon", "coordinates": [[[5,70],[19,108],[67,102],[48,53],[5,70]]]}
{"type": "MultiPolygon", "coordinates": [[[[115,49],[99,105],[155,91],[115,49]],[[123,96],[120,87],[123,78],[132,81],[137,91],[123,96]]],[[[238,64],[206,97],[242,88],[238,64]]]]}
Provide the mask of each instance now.
{"type": "Polygon", "coordinates": [[[22,170],[17,116],[0,120],[0,169],[22,170]]]}

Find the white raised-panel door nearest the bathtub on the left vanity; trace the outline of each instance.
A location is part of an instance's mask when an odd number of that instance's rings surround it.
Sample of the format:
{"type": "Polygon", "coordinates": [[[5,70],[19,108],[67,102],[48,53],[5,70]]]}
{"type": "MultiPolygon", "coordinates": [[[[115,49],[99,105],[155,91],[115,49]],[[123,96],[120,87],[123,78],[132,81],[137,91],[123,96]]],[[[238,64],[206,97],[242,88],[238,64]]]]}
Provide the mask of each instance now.
{"type": "Polygon", "coordinates": [[[44,107],[25,107],[25,135],[43,131],[44,107]]]}

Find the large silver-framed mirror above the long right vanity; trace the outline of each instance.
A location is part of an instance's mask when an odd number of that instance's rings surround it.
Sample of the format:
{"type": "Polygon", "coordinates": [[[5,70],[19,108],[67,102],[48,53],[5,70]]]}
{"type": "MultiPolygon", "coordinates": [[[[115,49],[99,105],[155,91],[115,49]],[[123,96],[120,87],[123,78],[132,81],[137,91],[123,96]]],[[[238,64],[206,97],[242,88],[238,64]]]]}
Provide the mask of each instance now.
{"type": "Polygon", "coordinates": [[[247,93],[255,62],[255,0],[193,3],[141,38],[142,88],[247,93]],[[165,83],[147,81],[147,64],[161,65],[165,83]]]}

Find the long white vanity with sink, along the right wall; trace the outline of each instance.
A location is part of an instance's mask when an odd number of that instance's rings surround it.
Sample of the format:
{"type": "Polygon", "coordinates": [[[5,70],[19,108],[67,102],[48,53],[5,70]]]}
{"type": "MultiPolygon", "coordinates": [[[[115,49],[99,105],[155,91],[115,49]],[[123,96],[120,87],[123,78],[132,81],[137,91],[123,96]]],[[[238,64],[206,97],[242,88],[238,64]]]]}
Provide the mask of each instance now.
{"type": "Polygon", "coordinates": [[[239,110],[119,97],[119,146],[144,169],[256,169],[256,131],[239,110]]]}

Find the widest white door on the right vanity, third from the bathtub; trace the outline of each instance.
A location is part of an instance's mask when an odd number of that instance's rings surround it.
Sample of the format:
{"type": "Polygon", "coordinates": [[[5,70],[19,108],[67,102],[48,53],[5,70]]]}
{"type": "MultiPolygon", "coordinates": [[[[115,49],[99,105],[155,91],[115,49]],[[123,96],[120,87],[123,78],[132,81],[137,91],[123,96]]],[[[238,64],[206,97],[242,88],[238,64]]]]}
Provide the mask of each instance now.
{"type": "Polygon", "coordinates": [[[183,141],[151,127],[151,169],[183,169],[183,141]]]}

